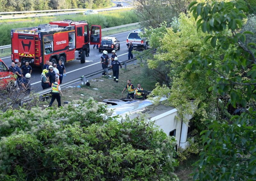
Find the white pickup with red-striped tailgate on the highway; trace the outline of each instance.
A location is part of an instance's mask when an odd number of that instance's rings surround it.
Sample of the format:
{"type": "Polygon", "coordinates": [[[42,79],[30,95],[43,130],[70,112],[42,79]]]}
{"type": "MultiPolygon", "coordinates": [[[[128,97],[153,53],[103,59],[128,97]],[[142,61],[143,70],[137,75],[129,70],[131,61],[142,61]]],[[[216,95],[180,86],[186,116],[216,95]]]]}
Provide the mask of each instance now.
{"type": "Polygon", "coordinates": [[[146,38],[140,38],[141,30],[135,30],[130,32],[127,39],[126,45],[128,46],[132,42],[133,47],[143,47],[145,50],[148,49],[148,41],[146,38]]]}

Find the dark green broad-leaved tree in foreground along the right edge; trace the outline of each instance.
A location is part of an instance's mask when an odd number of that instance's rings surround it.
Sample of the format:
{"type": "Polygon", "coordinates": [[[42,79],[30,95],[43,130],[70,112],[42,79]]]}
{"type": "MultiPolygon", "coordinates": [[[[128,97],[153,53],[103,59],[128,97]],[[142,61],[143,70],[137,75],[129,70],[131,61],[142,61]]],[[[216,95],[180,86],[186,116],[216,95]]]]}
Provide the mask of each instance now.
{"type": "MultiPolygon", "coordinates": [[[[204,151],[196,163],[196,180],[255,180],[255,43],[247,43],[245,34],[239,32],[248,8],[245,2],[206,2],[190,4],[197,20],[197,29],[210,35],[212,48],[233,49],[225,54],[222,64],[216,64],[212,54],[197,56],[188,65],[191,70],[207,68],[216,73],[215,84],[209,89],[214,94],[229,96],[229,103],[240,111],[231,119],[210,119],[208,130],[201,132],[204,151]],[[229,30],[227,36],[223,31],[229,30]],[[222,74],[220,71],[224,71],[222,74]]],[[[200,31],[198,31],[200,32],[200,31]]]]}

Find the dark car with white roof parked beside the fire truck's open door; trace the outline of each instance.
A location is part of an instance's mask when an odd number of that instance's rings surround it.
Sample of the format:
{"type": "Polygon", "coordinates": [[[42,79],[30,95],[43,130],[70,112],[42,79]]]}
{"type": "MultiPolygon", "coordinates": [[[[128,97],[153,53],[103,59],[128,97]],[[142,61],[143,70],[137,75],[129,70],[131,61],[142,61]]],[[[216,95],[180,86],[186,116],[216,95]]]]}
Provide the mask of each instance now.
{"type": "Polygon", "coordinates": [[[105,36],[101,38],[101,42],[99,45],[99,52],[107,50],[120,50],[120,42],[116,39],[116,37],[105,36]]]}

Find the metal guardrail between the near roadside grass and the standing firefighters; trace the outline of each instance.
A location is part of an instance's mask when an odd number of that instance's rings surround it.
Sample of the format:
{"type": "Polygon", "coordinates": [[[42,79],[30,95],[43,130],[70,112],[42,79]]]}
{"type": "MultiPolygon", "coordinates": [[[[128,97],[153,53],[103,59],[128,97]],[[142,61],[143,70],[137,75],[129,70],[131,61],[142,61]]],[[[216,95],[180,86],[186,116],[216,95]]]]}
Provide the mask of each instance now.
{"type": "MultiPolygon", "coordinates": [[[[125,60],[125,61],[121,62],[121,63],[124,63],[124,69],[126,69],[126,64],[127,64],[127,63],[132,62],[132,61],[134,61],[134,60],[137,60],[137,58],[132,58],[132,59],[130,59],[130,60],[125,60]]],[[[68,81],[68,82],[62,83],[62,84],[60,84],[60,86],[61,86],[61,88],[65,88],[65,87],[68,87],[68,86],[70,86],[70,85],[72,85],[72,84],[74,84],[74,83],[80,82],[80,81],[83,81],[83,82],[84,82],[84,85],[85,85],[86,79],[89,80],[91,77],[96,76],[96,75],[98,75],[98,74],[102,74],[103,72],[106,72],[106,73],[107,73],[106,76],[108,76],[108,71],[109,71],[109,70],[110,70],[110,67],[108,67],[108,68],[106,68],[106,69],[104,69],[104,70],[103,70],[103,69],[102,69],[102,70],[97,70],[97,71],[95,71],[95,72],[93,72],[93,73],[91,73],[91,74],[87,74],[87,75],[78,77],[78,78],[76,78],[76,79],[70,80],[70,81],[68,81]]],[[[44,90],[42,90],[42,91],[36,92],[36,94],[38,94],[38,96],[42,96],[42,95],[44,95],[44,94],[46,94],[46,93],[49,93],[49,92],[51,92],[51,91],[52,91],[52,88],[48,88],[48,89],[44,89],[44,90]]],[[[28,96],[26,96],[26,97],[23,99],[23,102],[26,102],[26,101],[31,100],[31,99],[32,99],[32,98],[28,95],[28,96]]]]}

